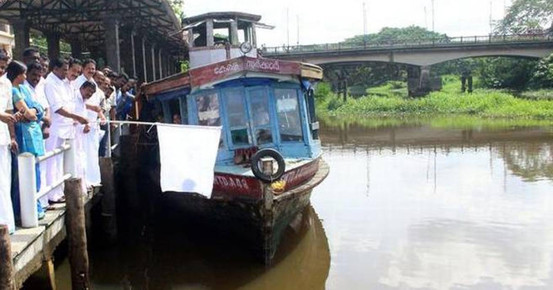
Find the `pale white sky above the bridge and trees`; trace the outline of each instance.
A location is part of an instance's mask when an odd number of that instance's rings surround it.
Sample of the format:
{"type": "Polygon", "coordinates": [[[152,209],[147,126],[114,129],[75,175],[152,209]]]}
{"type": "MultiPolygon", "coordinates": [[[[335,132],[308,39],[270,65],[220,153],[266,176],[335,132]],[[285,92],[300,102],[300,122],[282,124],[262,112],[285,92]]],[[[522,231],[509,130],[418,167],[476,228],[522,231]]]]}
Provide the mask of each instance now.
{"type": "MultiPolygon", "coordinates": [[[[434,30],[450,37],[488,35],[490,11],[492,20],[500,20],[511,1],[434,0],[434,30]]],[[[298,31],[300,44],[336,43],[362,35],[363,3],[367,33],[411,25],[432,30],[432,0],[186,0],[184,11],[187,17],[221,11],[260,14],[262,23],[277,26],[258,29],[258,44],[270,47],[288,41],[295,45],[298,31]]]]}

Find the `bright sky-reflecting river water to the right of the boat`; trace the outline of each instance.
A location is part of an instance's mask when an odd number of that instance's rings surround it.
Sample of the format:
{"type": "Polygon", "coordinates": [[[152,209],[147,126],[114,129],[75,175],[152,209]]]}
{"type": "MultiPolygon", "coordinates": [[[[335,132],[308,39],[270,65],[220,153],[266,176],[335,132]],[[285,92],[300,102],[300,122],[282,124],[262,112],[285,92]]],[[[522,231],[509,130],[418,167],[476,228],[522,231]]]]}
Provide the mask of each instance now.
{"type": "Polygon", "coordinates": [[[324,126],[328,289],[552,289],[550,128],[324,126]]]}

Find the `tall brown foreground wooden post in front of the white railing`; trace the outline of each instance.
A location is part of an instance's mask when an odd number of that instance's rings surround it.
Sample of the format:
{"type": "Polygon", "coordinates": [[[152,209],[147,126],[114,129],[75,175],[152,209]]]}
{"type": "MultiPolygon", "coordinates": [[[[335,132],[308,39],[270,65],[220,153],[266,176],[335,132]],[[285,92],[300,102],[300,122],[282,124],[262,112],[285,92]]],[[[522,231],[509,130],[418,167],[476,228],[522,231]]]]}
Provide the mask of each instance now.
{"type": "Polygon", "coordinates": [[[84,201],[80,178],[65,182],[67,239],[69,242],[69,266],[71,267],[71,289],[90,289],[88,280],[88,253],[86,251],[86,229],[84,223],[84,201]]]}

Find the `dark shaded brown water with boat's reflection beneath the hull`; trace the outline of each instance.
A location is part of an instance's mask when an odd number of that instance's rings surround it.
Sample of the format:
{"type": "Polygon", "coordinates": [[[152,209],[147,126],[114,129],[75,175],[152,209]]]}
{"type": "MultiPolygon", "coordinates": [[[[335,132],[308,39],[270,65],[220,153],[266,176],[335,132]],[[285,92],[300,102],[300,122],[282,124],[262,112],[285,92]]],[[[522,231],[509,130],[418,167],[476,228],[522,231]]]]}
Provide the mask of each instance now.
{"type": "MultiPolygon", "coordinates": [[[[274,267],[265,269],[242,245],[202,229],[180,229],[162,218],[116,248],[91,249],[95,289],[324,289],[330,268],[325,231],[311,206],[297,231],[285,234],[274,267]],[[165,226],[163,225],[165,224],[165,226]],[[150,232],[151,231],[151,232],[150,232]]],[[[57,271],[70,289],[68,264],[57,271]]]]}

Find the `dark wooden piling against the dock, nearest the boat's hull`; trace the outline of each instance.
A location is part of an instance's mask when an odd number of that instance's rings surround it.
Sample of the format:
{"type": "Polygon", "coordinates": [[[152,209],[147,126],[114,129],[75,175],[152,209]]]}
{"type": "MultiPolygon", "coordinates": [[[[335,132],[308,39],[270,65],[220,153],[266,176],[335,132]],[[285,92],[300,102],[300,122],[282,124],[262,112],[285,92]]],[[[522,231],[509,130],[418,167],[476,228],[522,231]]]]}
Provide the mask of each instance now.
{"type": "Polygon", "coordinates": [[[113,176],[113,160],[111,157],[100,157],[100,173],[102,175],[102,226],[109,242],[117,238],[117,216],[115,196],[115,179],[113,176]]]}

